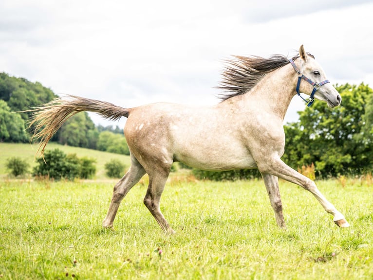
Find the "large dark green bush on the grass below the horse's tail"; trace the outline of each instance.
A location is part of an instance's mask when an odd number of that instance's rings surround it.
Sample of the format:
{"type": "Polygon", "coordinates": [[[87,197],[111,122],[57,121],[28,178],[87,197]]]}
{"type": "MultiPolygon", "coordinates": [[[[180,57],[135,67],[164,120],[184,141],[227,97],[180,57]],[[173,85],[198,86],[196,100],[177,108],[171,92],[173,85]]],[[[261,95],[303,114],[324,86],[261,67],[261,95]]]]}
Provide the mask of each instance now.
{"type": "Polygon", "coordinates": [[[76,154],[66,155],[60,149],[47,150],[44,152],[44,159],[37,159],[33,175],[54,180],[87,179],[95,173],[94,161],[89,158],[79,159],[76,154]]]}

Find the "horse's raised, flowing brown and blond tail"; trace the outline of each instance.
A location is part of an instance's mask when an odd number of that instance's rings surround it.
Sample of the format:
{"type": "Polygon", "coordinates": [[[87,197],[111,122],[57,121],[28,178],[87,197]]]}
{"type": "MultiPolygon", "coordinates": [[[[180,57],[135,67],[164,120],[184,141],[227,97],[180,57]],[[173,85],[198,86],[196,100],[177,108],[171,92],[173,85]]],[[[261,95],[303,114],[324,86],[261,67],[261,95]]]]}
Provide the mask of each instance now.
{"type": "Polygon", "coordinates": [[[33,112],[29,128],[35,124],[35,131],[31,140],[38,139],[40,141],[37,153],[40,153],[41,156],[44,154],[48,141],[58,128],[76,113],[83,111],[95,112],[109,120],[119,120],[121,117],[127,118],[129,114],[128,109],[109,102],[72,95],[67,97],[67,100],[56,98],[37,109],[28,110],[28,112],[33,112]]]}

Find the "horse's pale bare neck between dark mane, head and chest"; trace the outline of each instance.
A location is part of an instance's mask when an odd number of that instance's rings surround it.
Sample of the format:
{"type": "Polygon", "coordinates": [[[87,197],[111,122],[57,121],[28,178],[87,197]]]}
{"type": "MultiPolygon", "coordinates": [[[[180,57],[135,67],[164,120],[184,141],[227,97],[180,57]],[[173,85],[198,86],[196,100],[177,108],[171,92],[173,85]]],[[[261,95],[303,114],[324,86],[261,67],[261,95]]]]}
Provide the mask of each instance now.
{"type": "Polygon", "coordinates": [[[290,101],[296,94],[297,75],[288,64],[265,75],[258,84],[245,94],[247,102],[261,101],[261,109],[273,112],[284,119],[290,101]]]}

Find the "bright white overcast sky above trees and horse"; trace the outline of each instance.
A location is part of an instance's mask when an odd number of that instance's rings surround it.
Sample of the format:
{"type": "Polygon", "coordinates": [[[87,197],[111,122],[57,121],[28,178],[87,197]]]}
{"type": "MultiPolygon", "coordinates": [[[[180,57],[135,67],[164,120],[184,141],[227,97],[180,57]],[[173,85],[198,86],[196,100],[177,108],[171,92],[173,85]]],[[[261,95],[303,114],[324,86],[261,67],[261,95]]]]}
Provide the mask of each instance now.
{"type": "Polygon", "coordinates": [[[222,60],[304,44],[333,84],[372,87],[372,17],[372,0],[1,0],[0,72],[123,107],[212,105],[222,60]]]}

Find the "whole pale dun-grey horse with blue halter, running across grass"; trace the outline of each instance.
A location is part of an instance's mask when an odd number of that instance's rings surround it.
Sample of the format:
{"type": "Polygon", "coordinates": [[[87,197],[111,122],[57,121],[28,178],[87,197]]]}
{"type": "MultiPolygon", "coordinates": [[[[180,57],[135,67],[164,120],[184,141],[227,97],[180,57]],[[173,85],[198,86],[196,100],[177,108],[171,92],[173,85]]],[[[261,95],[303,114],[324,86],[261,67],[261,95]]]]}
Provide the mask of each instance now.
{"type": "Polygon", "coordinates": [[[280,158],[284,153],[283,119],[292,98],[300,92],[325,101],[330,108],[341,103],[325,72],[303,45],[292,59],[233,56],[225,61],[219,88],[221,102],[192,106],[167,102],[123,108],[109,102],[77,96],[57,98],[34,108],[30,126],[38,139],[38,153],[59,127],[78,112],[90,111],[109,120],[127,118],[124,135],[131,166],[115,184],[103,227],[113,228],[119,205],[145,175],[149,185],[144,204],[166,233],[174,233],[160,210],[160,199],[173,162],[209,171],[259,169],[278,226],[286,230],[279,180],[311,192],[339,227],[345,217],[317,189],[313,180],[299,174],[280,158]],[[315,80],[315,81],[314,81],[315,80]]]}

